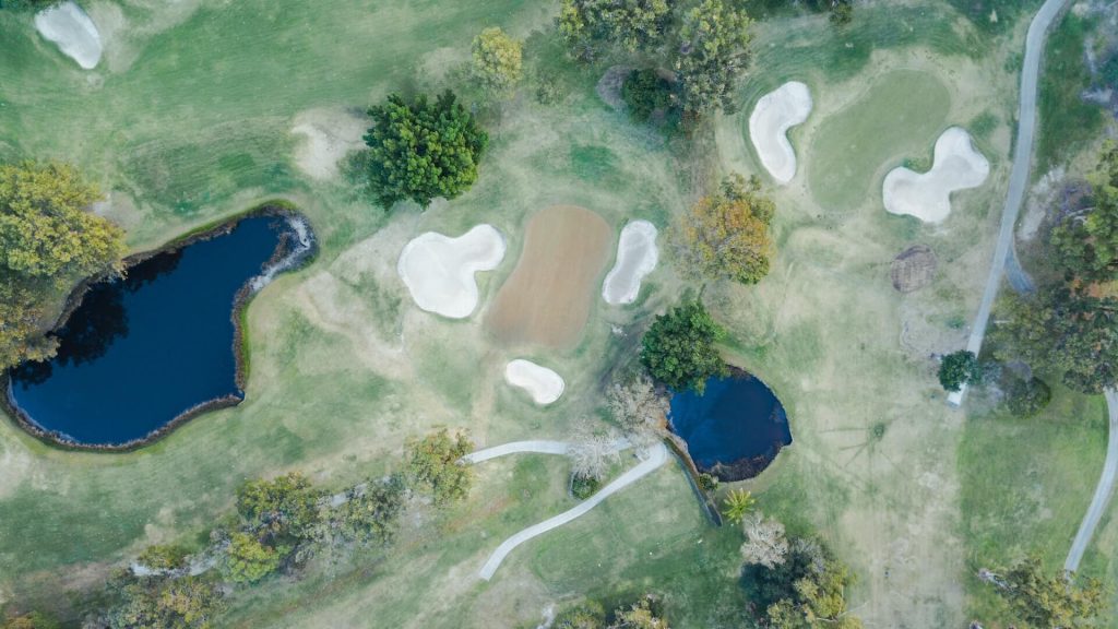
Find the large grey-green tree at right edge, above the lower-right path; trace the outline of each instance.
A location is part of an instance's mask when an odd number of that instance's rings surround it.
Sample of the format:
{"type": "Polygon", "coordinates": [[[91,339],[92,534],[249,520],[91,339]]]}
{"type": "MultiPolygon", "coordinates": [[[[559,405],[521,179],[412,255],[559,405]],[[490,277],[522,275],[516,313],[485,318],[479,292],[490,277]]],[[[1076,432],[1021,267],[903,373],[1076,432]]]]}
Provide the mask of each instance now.
{"type": "Polygon", "coordinates": [[[1008,297],[993,330],[997,353],[1059,374],[1076,391],[1096,395],[1118,382],[1118,299],[1058,285],[1032,297],[1008,297]]]}

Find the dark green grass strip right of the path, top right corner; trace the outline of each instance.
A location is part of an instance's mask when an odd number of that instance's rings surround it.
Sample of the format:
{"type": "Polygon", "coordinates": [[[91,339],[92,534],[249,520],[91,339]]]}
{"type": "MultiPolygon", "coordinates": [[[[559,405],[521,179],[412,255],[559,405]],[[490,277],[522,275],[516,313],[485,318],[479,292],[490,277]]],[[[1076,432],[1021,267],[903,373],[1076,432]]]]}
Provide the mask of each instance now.
{"type": "Polygon", "coordinates": [[[1093,22],[1068,11],[1049,35],[1040,86],[1035,176],[1065,163],[1096,141],[1106,123],[1106,111],[1080,97],[1092,84],[1083,45],[1093,28],[1093,22]]]}

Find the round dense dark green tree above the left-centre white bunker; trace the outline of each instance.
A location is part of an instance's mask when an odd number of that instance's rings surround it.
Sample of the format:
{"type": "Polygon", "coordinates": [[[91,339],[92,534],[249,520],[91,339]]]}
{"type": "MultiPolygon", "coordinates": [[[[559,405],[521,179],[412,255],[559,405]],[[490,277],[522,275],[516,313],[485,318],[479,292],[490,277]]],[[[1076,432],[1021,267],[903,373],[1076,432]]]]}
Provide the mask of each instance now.
{"type": "Polygon", "coordinates": [[[369,186],[385,208],[404,199],[423,207],[436,197],[453,199],[477,179],[489,135],[449,90],[434,103],[423,94],[411,103],[392,94],[369,115],[369,186]]]}

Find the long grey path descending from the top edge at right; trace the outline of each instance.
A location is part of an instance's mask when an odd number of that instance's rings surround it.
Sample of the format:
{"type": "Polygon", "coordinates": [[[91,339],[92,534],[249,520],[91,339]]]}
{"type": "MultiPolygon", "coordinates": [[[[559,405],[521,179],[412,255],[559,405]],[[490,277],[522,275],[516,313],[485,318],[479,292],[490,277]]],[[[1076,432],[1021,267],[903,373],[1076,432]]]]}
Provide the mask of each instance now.
{"type": "MultiPolygon", "coordinates": [[[[1002,227],[997,235],[997,245],[994,247],[994,261],[989,265],[989,275],[986,278],[986,290],[983,291],[978,314],[975,317],[974,327],[970,328],[970,338],[967,339],[967,350],[975,355],[982,350],[982,341],[986,336],[986,323],[989,321],[989,311],[994,307],[997,289],[1002,284],[1002,271],[1005,269],[1006,257],[1010,255],[1013,228],[1017,223],[1021,203],[1025,198],[1025,188],[1029,186],[1033,139],[1036,135],[1036,84],[1043,59],[1044,38],[1057,16],[1068,4],[1071,4],[1071,0],[1048,0],[1044,2],[1032,24],[1029,25],[1029,34],[1025,36],[1025,60],[1021,68],[1021,109],[1017,112],[1017,142],[1013,150],[1010,189],[1005,197],[1005,207],[1002,209],[1002,227]]],[[[964,385],[960,391],[948,395],[947,401],[958,406],[963,403],[966,391],[964,385]]]]}

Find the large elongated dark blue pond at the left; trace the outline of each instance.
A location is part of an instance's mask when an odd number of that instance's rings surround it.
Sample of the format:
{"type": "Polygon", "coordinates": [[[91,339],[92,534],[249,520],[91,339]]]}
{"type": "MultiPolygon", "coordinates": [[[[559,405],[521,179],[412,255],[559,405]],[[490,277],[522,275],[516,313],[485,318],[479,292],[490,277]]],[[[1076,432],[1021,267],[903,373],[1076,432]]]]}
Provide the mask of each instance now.
{"type": "Polygon", "coordinates": [[[241,398],[235,301],[291,265],[310,240],[299,219],[254,216],[94,284],[57,331],[58,355],[12,370],[11,403],[60,440],[119,445],[200,404],[241,398]]]}

